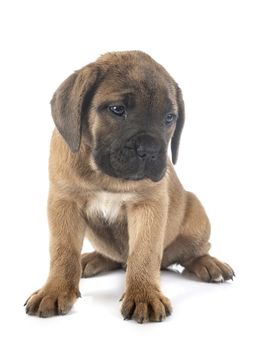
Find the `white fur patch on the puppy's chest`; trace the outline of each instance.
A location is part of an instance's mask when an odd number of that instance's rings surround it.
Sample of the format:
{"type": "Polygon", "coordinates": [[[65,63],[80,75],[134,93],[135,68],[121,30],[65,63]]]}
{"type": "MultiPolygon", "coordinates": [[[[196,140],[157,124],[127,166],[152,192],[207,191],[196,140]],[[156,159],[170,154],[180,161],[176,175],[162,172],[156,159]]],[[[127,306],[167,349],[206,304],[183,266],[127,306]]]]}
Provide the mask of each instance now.
{"type": "Polygon", "coordinates": [[[114,222],[122,205],[132,198],[130,193],[98,192],[87,206],[87,214],[90,216],[101,215],[105,220],[114,222]]]}

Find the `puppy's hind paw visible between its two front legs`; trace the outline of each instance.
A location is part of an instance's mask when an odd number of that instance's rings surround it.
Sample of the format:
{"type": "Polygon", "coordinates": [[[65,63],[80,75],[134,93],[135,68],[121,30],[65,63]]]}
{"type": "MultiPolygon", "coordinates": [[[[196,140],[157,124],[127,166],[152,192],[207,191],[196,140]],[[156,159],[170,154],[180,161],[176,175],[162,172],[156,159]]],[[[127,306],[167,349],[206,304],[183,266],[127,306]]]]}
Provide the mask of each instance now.
{"type": "Polygon", "coordinates": [[[84,253],[81,255],[82,277],[92,277],[101,272],[118,270],[122,264],[111,260],[98,252],[84,253]]]}

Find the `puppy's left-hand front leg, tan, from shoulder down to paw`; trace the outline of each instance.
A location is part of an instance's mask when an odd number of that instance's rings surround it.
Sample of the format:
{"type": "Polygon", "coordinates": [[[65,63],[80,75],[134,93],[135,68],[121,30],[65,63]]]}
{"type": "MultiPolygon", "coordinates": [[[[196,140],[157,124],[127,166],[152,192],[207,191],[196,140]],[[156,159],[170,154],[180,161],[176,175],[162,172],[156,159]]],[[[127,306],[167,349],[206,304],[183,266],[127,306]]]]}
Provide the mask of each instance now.
{"type": "Polygon", "coordinates": [[[48,220],[50,273],[43,288],[26,302],[26,312],[41,317],[66,314],[80,295],[80,252],[85,231],[84,219],[76,204],[51,194],[48,220]]]}

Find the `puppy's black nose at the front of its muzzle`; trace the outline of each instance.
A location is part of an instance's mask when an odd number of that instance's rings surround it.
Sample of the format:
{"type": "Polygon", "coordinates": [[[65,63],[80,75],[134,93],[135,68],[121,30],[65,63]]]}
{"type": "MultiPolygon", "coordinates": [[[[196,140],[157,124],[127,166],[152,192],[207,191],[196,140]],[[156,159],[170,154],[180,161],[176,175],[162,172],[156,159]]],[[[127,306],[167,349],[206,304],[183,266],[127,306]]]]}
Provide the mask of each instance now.
{"type": "Polygon", "coordinates": [[[156,160],[160,148],[159,142],[150,135],[141,135],[136,140],[136,153],[142,160],[156,160]]]}

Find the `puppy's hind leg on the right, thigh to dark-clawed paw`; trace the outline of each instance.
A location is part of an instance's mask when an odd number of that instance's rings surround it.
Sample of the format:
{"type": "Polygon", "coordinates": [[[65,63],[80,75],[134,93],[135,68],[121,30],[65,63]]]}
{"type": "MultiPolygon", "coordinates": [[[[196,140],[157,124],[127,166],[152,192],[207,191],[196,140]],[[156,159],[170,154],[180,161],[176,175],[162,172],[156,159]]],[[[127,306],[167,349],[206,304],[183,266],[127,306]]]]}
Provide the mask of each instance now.
{"type": "Polygon", "coordinates": [[[187,192],[185,216],[180,234],[165,248],[162,269],[179,263],[205,282],[223,282],[233,279],[232,268],[208,254],[210,224],[197,197],[187,192]]]}

